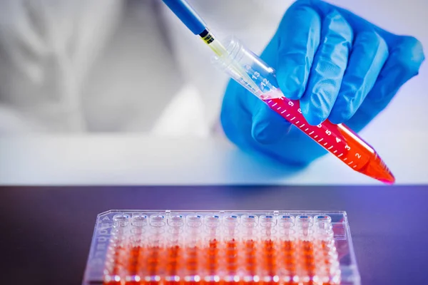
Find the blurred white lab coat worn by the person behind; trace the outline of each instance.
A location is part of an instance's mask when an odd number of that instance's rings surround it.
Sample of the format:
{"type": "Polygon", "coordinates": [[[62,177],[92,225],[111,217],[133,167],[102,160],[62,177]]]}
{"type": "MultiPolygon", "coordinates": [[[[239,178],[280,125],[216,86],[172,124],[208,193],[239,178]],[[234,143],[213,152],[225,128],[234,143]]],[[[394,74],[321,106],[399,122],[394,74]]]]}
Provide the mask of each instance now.
{"type": "MultiPolygon", "coordinates": [[[[260,53],[290,1],[189,1],[260,53]]],[[[161,0],[1,0],[0,133],[212,133],[225,74],[161,0]]]]}

